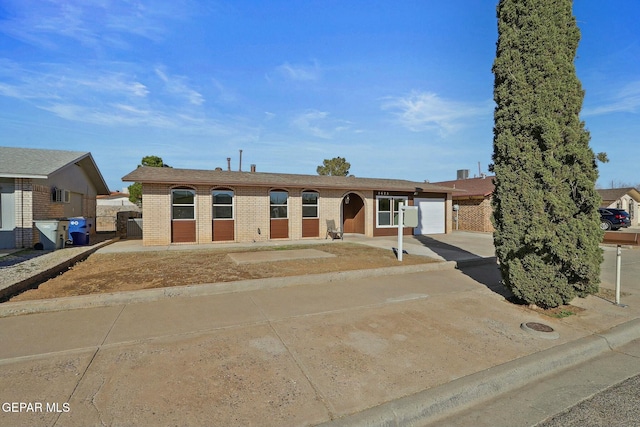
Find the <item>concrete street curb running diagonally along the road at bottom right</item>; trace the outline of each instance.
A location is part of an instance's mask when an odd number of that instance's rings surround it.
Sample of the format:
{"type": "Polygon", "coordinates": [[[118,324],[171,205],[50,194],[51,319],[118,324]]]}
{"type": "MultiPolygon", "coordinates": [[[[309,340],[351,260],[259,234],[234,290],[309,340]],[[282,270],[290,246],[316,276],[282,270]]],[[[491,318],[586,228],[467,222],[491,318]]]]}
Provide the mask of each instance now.
{"type": "Polygon", "coordinates": [[[637,339],[640,319],[319,426],[429,425],[637,339]]]}

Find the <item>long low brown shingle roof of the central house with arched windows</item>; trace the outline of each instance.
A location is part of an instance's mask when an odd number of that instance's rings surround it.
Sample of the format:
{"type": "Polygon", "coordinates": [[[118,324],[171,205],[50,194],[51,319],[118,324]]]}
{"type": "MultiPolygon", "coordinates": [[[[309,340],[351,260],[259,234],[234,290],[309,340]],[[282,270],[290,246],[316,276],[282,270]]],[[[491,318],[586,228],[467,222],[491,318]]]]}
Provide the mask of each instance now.
{"type": "Polygon", "coordinates": [[[296,175],[264,172],[235,172],[139,167],[122,178],[126,182],[163,183],[176,185],[228,185],[284,188],[335,188],[347,190],[423,191],[452,193],[455,190],[424,182],[401,179],[356,178],[344,176],[296,175]]]}

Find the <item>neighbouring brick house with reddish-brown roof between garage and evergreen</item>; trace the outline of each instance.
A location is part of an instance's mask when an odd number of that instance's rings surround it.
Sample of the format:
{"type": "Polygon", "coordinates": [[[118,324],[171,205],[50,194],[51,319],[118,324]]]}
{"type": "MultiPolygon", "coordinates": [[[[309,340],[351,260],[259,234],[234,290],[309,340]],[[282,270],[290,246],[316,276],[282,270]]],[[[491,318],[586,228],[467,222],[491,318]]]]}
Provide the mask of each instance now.
{"type": "MultiPolygon", "coordinates": [[[[453,203],[459,206],[458,230],[493,232],[491,223],[491,195],[493,194],[493,176],[457,179],[455,181],[434,182],[434,185],[464,190],[453,194],[453,203]]],[[[454,216],[454,229],[455,218],[454,216]]]]}

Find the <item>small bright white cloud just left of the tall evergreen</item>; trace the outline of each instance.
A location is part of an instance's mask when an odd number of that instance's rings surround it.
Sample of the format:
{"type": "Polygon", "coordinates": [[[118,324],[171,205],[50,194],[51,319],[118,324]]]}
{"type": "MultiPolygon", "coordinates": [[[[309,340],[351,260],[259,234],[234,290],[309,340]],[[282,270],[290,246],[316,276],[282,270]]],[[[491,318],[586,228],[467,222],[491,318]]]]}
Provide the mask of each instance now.
{"type": "Polygon", "coordinates": [[[450,101],[432,92],[419,91],[386,98],[382,109],[391,111],[398,123],[413,132],[437,130],[442,134],[461,128],[465,119],[492,111],[490,107],[450,101]]]}

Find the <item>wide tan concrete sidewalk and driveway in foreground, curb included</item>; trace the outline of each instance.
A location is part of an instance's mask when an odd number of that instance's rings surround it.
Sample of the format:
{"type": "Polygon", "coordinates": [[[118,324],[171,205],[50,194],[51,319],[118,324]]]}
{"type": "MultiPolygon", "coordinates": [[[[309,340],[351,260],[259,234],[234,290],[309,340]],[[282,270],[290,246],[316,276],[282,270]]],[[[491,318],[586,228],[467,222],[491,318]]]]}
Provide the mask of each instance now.
{"type": "Polygon", "coordinates": [[[553,319],[503,299],[482,236],[405,247],[455,270],[0,318],[0,401],[25,404],[0,425],[419,425],[640,338],[640,251],[624,254],[628,307],[589,297],[553,319]]]}

